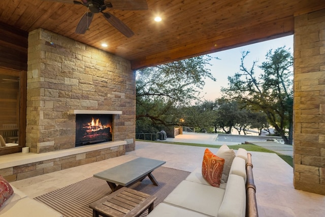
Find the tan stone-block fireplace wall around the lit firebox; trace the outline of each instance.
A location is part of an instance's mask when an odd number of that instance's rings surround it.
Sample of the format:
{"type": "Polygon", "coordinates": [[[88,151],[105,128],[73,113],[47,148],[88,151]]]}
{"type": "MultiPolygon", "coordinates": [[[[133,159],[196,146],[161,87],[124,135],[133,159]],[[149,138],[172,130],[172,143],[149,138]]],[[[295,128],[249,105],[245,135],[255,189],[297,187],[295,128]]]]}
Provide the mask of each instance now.
{"type": "Polygon", "coordinates": [[[28,36],[26,146],[44,153],[75,147],[70,110],[115,114],[113,141],[135,149],[135,72],[128,60],[44,29],[28,36]]]}

